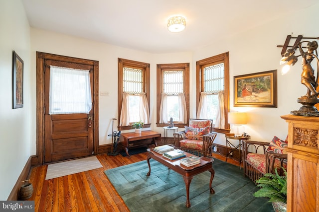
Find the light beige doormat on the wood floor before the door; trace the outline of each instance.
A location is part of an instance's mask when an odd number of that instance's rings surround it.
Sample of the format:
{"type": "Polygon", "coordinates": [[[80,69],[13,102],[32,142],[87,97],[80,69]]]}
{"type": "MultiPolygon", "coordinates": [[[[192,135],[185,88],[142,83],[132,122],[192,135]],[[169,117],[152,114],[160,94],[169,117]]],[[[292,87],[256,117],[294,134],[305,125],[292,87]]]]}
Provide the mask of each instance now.
{"type": "Polygon", "coordinates": [[[45,179],[49,180],[52,178],[62,177],[65,175],[75,174],[101,167],[103,166],[96,156],[49,164],[45,179]]]}

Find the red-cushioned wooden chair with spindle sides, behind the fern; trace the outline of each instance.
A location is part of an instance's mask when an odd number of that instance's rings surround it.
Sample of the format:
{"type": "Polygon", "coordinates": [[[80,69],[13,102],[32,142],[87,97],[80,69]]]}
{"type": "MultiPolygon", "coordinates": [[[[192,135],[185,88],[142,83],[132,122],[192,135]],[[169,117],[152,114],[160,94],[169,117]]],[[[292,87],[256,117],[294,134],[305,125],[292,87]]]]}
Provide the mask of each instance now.
{"type": "Polygon", "coordinates": [[[266,173],[275,173],[276,168],[278,168],[278,173],[283,175],[283,169],[280,167],[287,170],[287,152],[285,150],[287,143],[287,139],[283,141],[276,136],[270,143],[243,141],[245,176],[255,182],[266,173]],[[263,154],[258,150],[262,151],[263,154]]]}

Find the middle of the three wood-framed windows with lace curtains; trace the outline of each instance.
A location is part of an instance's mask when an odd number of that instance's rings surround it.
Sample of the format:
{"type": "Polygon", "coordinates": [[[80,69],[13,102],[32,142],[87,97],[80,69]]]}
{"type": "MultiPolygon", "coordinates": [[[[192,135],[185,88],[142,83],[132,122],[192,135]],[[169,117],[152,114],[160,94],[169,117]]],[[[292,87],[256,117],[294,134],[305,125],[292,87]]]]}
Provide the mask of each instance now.
{"type": "Polygon", "coordinates": [[[189,64],[158,64],[157,126],[184,127],[189,119],[189,64]]]}

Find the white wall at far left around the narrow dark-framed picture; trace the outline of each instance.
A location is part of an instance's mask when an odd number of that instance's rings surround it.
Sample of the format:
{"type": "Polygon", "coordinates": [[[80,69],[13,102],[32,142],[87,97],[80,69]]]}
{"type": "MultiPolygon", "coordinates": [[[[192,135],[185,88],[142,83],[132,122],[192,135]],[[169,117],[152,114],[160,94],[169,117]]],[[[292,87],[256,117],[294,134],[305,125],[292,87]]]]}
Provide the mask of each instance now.
{"type": "Polygon", "coordinates": [[[31,155],[30,29],[20,0],[0,1],[0,200],[6,200],[31,155]],[[23,108],[12,109],[12,51],[24,62],[23,108]]]}

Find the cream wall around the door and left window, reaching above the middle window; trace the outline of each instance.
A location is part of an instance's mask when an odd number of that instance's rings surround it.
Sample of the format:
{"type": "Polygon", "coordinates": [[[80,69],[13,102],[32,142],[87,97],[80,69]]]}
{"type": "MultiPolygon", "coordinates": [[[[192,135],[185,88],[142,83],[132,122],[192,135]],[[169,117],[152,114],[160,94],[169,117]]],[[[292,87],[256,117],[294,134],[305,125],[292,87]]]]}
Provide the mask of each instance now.
{"type": "MultiPolygon", "coordinates": [[[[153,130],[156,128],[156,65],[164,63],[191,63],[191,53],[149,54],[122,47],[98,43],[73,36],[57,34],[45,30],[31,28],[31,70],[34,70],[32,84],[35,86],[36,51],[99,61],[100,91],[108,91],[109,96],[100,96],[100,144],[111,143],[112,118],[118,118],[118,58],[150,63],[151,70],[151,120],[153,130]]],[[[35,99],[34,99],[34,104],[35,99]]],[[[34,106],[35,107],[35,106],[34,106]]],[[[35,114],[34,114],[35,116],[35,114]]],[[[117,121],[114,124],[116,130],[117,121]]],[[[127,130],[123,132],[131,132],[127,130]]],[[[32,149],[35,154],[35,143],[32,149]]]]}

